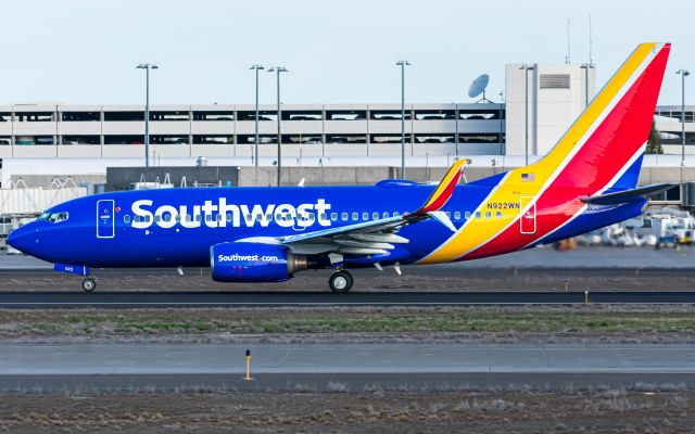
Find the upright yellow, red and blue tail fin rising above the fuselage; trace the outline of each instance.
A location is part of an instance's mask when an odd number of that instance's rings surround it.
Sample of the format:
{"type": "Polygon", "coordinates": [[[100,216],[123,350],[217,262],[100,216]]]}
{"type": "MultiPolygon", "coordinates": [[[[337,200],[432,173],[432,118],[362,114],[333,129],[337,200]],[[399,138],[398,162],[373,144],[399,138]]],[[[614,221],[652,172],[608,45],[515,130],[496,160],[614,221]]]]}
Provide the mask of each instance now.
{"type": "Polygon", "coordinates": [[[517,176],[533,173],[543,183],[585,188],[587,194],[618,181],[634,187],[670,49],[640,44],[555,148],[517,176]]]}

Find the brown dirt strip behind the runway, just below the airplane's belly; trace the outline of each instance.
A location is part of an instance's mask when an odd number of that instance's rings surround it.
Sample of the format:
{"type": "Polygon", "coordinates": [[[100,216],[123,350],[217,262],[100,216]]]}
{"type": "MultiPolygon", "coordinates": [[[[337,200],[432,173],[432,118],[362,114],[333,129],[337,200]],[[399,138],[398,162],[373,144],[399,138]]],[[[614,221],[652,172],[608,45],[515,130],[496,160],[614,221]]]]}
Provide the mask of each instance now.
{"type": "MultiPolygon", "coordinates": [[[[692,291],[692,269],[528,269],[414,266],[393,270],[354,270],[352,291],[692,291]]],[[[280,283],[218,283],[208,269],[93,270],[97,291],[328,291],[330,271],[305,271],[280,283]]],[[[2,271],[0,291],[81,291],[81,278],[50,270],[2,271]]]]}

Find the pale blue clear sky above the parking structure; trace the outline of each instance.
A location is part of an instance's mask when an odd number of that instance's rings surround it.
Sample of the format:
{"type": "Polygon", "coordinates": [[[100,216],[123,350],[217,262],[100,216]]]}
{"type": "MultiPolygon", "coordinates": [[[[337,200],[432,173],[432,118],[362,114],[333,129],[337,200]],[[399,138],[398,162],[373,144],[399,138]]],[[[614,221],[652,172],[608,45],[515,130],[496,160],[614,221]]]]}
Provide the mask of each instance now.
{"type": "MultiPolygon", "coordinates": [[[[399,103],[400,59],[407,102],[471,102],[482,73],[496,101],[505,63],[565,62],[568,18],[570,59],[587,62],[590,15],[597,88],[637,43],[668,41],[659,103],[680,104],[675,71],[695,73],[686,0],[3,0],[0,102],[142,103],[135,66],[154,62],[153,104],[252,104],[254,63],[289,69],[283,103],[399,103]]],[[[274,103],[271,74],[260,88],[274,103]]]]}

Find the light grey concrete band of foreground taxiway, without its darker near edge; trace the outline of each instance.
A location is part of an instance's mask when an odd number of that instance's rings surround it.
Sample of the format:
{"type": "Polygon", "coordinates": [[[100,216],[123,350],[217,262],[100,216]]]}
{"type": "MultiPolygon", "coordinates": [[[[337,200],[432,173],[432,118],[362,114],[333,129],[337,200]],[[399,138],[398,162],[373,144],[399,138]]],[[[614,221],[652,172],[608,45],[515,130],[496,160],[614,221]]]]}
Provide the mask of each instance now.
{"type": "Polygon", "coordinates": [[[695,373],[695,345],[0,344],[0,375],[695,373]]]}

